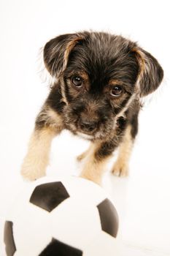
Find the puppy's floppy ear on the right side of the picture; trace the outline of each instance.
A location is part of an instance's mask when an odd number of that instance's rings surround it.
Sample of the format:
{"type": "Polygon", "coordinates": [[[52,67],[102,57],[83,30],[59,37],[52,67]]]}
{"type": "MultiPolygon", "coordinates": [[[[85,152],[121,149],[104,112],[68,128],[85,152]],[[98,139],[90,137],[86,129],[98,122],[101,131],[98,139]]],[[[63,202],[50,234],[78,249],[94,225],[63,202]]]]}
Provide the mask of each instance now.
{"type": "Polygon", "coordinates": [[[163,79],[163,69],[158,61],[142,48],[133,49],[139,63],[139,75],[136,81],[140,97],[155,91],[163,79]]]}

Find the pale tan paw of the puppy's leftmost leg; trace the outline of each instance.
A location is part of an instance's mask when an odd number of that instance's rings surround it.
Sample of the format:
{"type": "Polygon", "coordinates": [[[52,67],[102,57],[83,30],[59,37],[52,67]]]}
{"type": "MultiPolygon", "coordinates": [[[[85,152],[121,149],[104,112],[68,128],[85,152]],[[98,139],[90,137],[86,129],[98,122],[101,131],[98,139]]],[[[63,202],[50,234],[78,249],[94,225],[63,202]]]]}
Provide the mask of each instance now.
{"type": "Polygon", "coordinates": [[[35,181],[37,178],[42,178],[45,176],[45,168],[41,165],[31,165],[27,162],[24,162],[20,174],[23,176],[24,179],[28,181],[35,181]]]}

